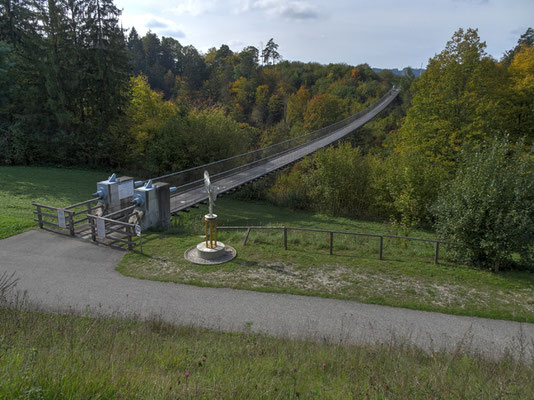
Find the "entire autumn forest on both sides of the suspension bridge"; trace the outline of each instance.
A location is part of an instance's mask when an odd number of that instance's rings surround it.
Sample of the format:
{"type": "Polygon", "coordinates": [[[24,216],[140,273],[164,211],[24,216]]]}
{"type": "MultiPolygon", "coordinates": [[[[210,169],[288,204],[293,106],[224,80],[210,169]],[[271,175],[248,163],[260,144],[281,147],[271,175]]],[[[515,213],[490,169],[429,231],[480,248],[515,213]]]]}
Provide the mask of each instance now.
{"type": "Polygon", "coordinates": [[[418,78],[284,61],[270,39],[205,54],[122,29],[112,0],[0,2],[0,164],[154,176],[393,107],[246,198],[418,226],[487,268],[534,265],[534,30],[500,60],[458,29],[418,78]]]}

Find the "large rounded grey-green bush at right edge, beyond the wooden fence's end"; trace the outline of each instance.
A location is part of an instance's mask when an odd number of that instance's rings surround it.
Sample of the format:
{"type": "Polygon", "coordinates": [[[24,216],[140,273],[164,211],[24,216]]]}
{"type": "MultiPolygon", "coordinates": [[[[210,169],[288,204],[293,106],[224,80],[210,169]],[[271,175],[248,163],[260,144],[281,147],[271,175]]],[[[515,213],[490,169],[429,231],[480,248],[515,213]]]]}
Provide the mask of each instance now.
{"type": "Polygon", "coordinates": [[[457,257],[472,265],[513,267],[534,260],[534,150],[494,139],[465,151],[455,179],[433,207],[441,237],[463,245],[457,257]]]}

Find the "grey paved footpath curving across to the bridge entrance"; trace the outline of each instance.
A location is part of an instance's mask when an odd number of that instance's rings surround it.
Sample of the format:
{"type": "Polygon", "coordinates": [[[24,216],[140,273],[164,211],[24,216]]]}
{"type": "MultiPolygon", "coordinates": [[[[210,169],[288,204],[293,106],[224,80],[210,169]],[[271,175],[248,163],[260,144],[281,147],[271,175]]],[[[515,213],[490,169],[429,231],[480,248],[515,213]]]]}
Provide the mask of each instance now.
{"type": "Polygon", "coordinates": [[[334,343],[411,343],[534,360],[534,324],[415,311],[352,301],[202,288],[125,277],[124,252],[47,231],[0,240],[0,273],[41,309],[159,316],[179,325],[334,343]]]}

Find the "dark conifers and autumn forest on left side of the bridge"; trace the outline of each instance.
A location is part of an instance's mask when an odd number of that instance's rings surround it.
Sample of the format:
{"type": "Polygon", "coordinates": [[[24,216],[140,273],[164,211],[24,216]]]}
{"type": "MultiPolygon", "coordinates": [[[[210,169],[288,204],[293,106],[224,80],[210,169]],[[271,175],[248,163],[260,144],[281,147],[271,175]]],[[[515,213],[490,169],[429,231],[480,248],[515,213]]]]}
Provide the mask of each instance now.
{"type": "Polygon", "coordinates": [[[112,0],[0,2],[1,163],[170,172],[328,125],[398,80],[366,64],[282,61],[273,39],[202,54],[125,32],[119,17],[112,0]],[[199,136],[196,124],[211,128],[199,136]]]}

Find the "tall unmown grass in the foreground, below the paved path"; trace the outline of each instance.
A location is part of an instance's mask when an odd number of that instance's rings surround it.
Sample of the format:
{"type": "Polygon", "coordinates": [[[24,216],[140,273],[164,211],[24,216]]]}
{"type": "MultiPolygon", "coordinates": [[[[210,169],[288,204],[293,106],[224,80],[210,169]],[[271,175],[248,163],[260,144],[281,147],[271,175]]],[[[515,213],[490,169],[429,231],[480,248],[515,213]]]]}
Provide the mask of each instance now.
{"type": "Polygon", "coordinates": [[[0,308],[0,399],[526,399],[533,368],[0,308]]]}

